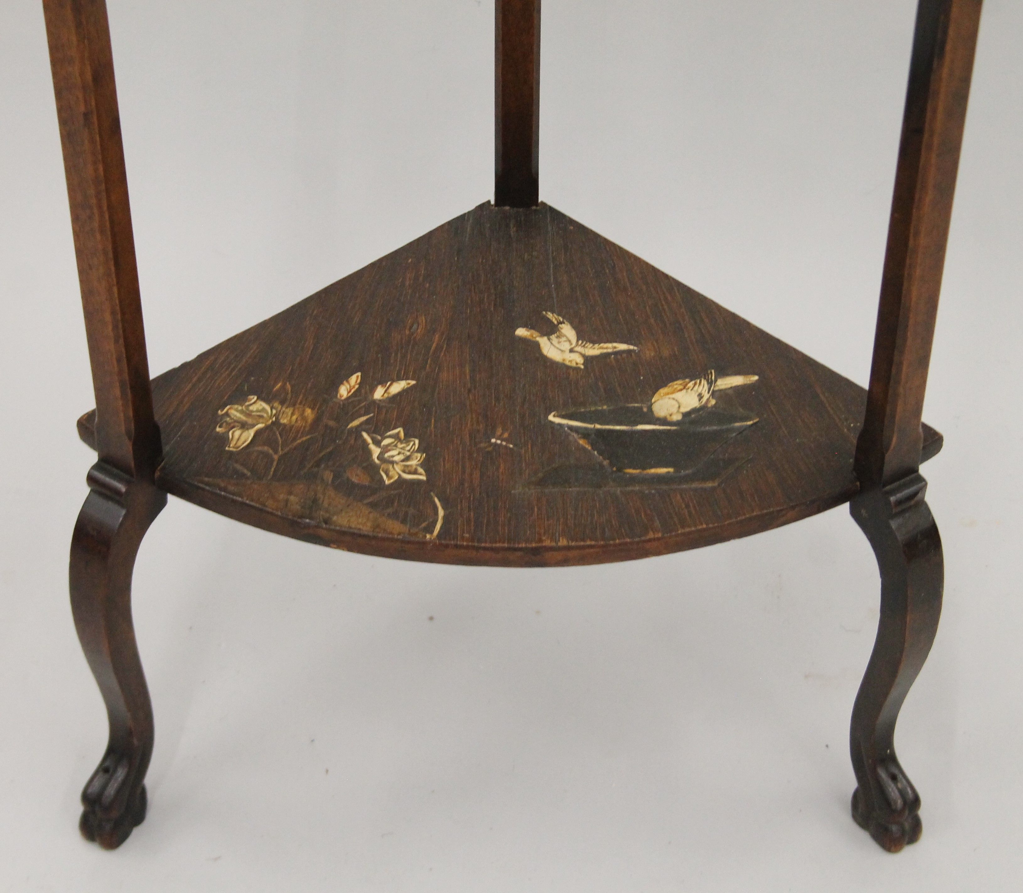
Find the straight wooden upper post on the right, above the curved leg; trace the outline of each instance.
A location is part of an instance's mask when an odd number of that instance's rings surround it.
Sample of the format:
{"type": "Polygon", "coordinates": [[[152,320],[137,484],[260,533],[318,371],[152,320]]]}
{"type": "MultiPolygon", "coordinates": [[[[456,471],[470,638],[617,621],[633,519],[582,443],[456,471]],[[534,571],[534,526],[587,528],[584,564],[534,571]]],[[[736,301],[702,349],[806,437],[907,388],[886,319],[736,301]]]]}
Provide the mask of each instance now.
{"type": "Polygon", "coordinates": [[[920,0],[856,472],[920,467],[921,416],[982,0],[920,0]]]}

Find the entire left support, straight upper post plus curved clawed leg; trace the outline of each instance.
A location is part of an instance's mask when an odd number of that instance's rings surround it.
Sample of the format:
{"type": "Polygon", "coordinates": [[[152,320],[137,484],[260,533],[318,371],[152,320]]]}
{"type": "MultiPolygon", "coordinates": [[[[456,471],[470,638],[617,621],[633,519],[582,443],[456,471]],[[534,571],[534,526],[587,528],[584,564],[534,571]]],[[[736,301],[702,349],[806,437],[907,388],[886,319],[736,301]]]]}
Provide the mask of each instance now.
{"type": "Polygon", "coordinates": [[[99,461],[71,548],[71,600],[103,696],[106,752],[82,792],[82,834],[113,849],[145,817],[152,710],[135,645],[131,576],[167,503],[153,484],[152,414],[138,272],[103,0],[44,0],[75,252],[96,393],[99,461]]]}

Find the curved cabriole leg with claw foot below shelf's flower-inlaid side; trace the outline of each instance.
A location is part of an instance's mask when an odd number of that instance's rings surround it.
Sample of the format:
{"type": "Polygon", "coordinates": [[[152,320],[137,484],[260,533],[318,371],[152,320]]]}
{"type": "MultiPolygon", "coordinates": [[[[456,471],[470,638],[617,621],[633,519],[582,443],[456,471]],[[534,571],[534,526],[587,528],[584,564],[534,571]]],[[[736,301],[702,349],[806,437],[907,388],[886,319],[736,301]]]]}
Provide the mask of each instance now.
{"type": "Polygon", "coordinates": [[[83,837],[104,849],[145,818],[142,781],[152,753],[152,708],[135,645],[131,577],[138,547],[167,495],[97,463],[71,547],[71,603],[82,650],[106,705],[106,752],[82,791],[83,837]]]}

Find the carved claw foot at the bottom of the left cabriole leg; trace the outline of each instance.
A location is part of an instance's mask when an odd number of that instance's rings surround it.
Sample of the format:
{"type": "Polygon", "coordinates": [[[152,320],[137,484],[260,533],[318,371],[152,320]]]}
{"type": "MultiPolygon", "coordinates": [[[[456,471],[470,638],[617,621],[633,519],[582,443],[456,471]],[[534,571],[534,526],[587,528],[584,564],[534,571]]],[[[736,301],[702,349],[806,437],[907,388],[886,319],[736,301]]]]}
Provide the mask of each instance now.
{"type": "Polygon", "coordinates": [[[103,849],[117,849],[145,819],[145,785],[131,758],[108,753],[82,792],[85,807],[78,828],[82,837],[103,849]]]}

